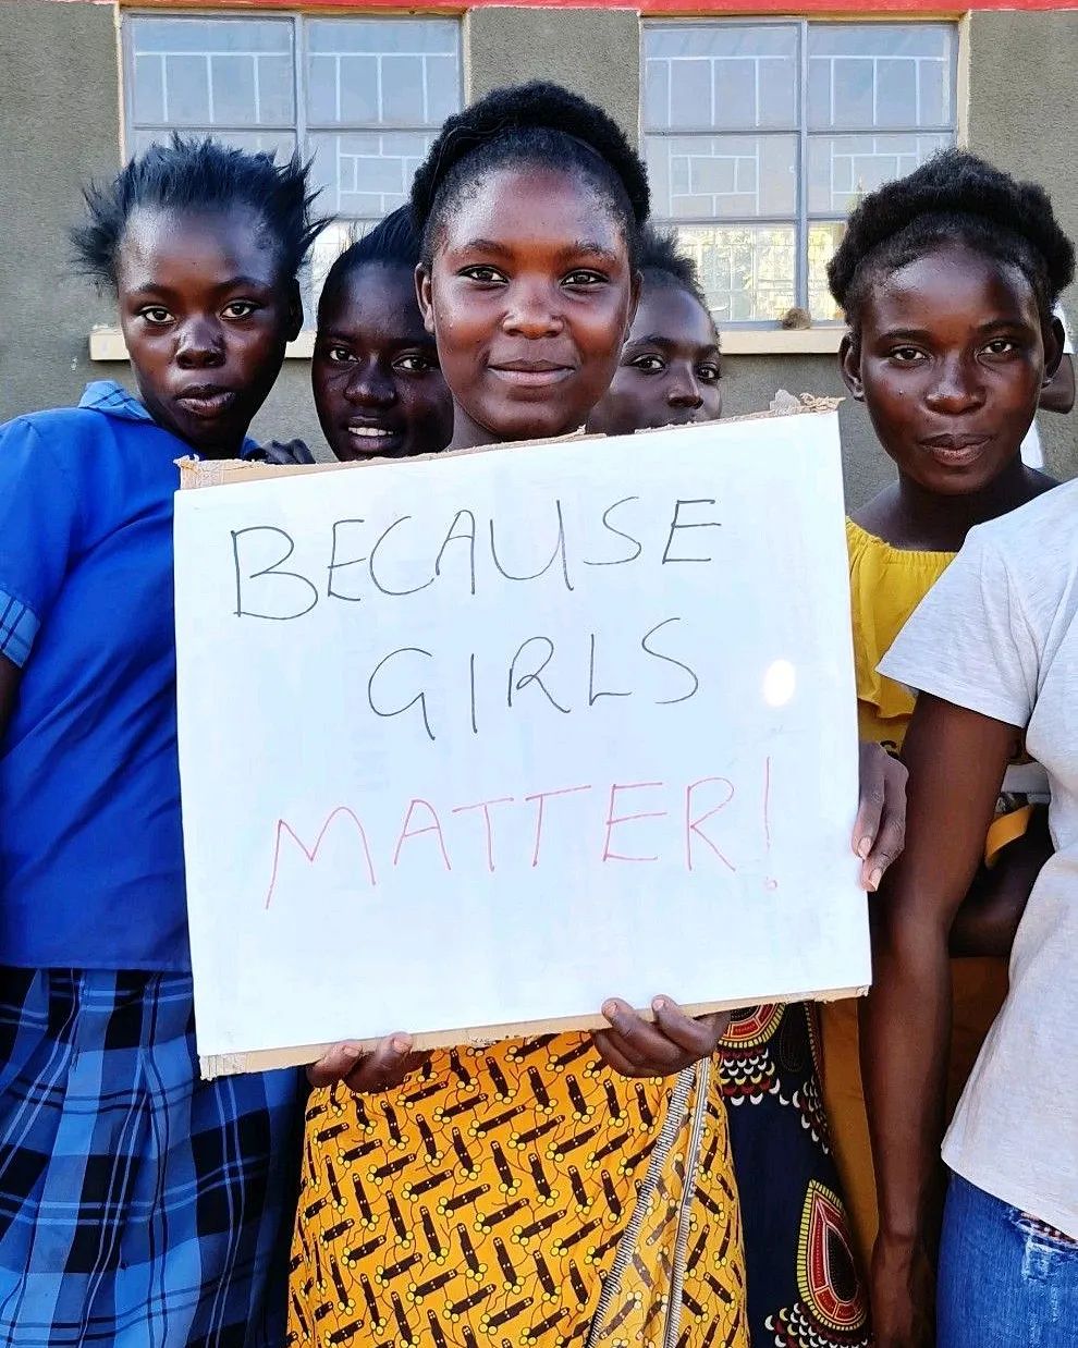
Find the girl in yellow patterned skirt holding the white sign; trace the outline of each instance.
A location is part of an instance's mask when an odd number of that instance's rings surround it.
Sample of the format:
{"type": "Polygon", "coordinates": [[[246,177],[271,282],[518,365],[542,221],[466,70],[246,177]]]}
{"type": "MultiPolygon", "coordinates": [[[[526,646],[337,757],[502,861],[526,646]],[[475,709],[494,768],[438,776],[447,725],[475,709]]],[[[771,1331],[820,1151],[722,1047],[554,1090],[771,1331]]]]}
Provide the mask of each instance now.
{"type": "MultiPolygon", "coordinates": [[[[496,92],[446,123],[412,206],[451,448],[583,426],[639,288],[648,191],[623,133],[551,85],[496,92]]],[[[416,1066],[400,1034],[314,1072],[331,1088],[309,1109],[295,1341],[747,1344],[726,1018],[602,1011],[596,1035],[416,1066]]]]}

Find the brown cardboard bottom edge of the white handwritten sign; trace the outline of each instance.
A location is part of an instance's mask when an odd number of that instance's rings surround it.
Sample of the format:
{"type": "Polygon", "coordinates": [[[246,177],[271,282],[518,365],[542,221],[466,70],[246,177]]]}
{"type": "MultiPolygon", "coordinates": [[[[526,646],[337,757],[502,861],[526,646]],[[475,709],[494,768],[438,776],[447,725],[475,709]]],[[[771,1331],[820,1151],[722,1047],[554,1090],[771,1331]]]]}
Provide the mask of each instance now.
{"type": "MultiPolygon", "coordinates": [[[[683,1007],[689,1015],[710,1015],[714,1011],[737,1011],[745,1006],[765,1006],[771,1002],[842,1002],[846,998],[862,998],[868,992],[868,985],[858,988],[827,988],[825,992],[799,992],[794,996],[783,998],[738,998],[734,1002],[699,1002],[683,1007]]],[[[645,1019],[654,1020],[651,1011],[640,1012],[645,1019]]],[[[469,1030],[431,1030],[427,1034],[414,1034],[412,1047],[415,1051],[427,1049],[485,1049],[499,1039],[523,1039],[538,1034],[566,1034],[573,1030],[605,1030],[609,1029],[601,1015],[563,1016],[550,1020],[526,1020],[511,1024],[486,1024],[469,1030]]],[[[362,1049],[376,1047],[377,1039],[350,1039],[362,1049]]],[[[244,1072],[276,1072],[280,1068],[303,1068],[318,1060],[333,1047],[331,1043],[296,1045],[294,1049],[253,1049],[249,1053],[210,1053],[199,1054],[198,1068],[203,1081],[213,1081],[216,1077],[237,1076],[244,1072]]]]}

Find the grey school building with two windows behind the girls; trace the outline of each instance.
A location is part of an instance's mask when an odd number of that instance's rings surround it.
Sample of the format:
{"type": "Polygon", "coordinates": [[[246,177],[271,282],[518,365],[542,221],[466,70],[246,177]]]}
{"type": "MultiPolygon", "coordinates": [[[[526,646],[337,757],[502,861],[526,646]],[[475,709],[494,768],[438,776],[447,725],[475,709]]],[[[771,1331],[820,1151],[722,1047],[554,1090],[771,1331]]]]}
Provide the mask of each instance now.
{"type": "MultiPolygon", "coordinates": [[[[842,392],[827,257],[858,194],[937,148],[1039,179],[1078,236],[1078,8],[1054,0],[0,0],[0,421],[128,377],[65,231],[85,178],[172,128],[313,158],[338,224],[310,305],[348,228],[404,201],[446,115],[497,85],[569,85],[636,139],[656,218],[699,262],[729,412],[779,387],[842,392]]],[[[310,349],[305,332],[255,433],[326,454],[310,349]]],[[[842,418],[857,503],[888,465],[862,410],[842,418]]],[[[1075,425],[1040,418],[1063,476],[1075,425]]]]}

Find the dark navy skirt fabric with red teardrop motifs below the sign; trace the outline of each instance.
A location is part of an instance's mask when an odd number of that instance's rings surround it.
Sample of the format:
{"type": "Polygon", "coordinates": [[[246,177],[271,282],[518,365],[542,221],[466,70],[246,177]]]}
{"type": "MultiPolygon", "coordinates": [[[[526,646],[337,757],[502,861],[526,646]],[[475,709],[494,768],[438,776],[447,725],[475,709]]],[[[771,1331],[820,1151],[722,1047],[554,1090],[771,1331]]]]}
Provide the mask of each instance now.
{"type": "Polygon", "coordinates": [[[720,1061],[755,1348],[868,1348],[868,1302],[823,1113],[815,1008],[736,1011],[720,1061]]]}

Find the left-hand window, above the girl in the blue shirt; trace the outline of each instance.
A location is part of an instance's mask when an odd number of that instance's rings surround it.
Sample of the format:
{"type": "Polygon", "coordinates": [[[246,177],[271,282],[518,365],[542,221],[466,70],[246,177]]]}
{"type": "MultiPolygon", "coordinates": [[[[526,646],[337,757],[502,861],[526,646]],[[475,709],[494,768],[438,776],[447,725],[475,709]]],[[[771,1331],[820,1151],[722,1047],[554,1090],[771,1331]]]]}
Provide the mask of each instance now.
{"type": "Polygon", "coordinates": [[[325,275],[348,228],[403,205],[442,121],[461,106],[453,19],[124,19],[128,151],[171,131],[314,159],[325,275]]]}

